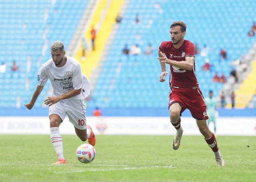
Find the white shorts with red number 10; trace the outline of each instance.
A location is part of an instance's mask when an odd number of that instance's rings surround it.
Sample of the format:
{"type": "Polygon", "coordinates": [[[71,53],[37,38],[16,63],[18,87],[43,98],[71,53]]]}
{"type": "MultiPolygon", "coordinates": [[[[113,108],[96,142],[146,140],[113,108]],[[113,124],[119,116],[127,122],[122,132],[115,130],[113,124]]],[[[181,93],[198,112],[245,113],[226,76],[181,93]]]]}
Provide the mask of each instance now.
{"type": "Polygon", "coordinates": [[[86,129],[86,110],[84,100],[66,99],[60,100],[49,107],[49,116],[57,114],[62,121],[68,114],[70,123],[77,129],[86,129]]]}

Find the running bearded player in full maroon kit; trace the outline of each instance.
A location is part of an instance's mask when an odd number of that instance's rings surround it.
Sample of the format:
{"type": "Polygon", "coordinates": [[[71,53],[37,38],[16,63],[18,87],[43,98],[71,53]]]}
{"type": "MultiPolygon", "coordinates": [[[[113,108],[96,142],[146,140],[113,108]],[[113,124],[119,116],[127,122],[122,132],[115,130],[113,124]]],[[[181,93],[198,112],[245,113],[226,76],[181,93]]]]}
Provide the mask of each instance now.
{"type": "Polygon", "coordinates": [[[170,95],[169,112],[172,125],[176,128],[172,148],[177,150],[180,146],[183,129],[180,124],[180,116],[184,110],[188,109],[192,117],[196,119],[196,124],[206,143],[215,154],[216,162],[219,166],[224,166],[225,162],[220,154],[216,138],[209,130],[206,120],[206,104],[195,72],[195,51],[194,44],[184,40],[186,35],[186,23],[173,22],[170,26],[170,36],[172,41],[163,41],[158,48],[158,58],[160,60],[162,73],[160,82],[164,82],[167,76],[166,64],[170,65],[170,95]]]}

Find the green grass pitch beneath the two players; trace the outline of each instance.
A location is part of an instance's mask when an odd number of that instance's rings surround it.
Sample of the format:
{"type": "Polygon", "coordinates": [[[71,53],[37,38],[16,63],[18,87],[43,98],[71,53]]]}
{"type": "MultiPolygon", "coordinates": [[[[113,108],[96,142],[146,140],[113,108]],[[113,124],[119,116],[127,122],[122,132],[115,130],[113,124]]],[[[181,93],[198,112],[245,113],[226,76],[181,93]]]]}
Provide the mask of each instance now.
{"type": "Polygon", "coordinates": [[[255,182],[256,138],[218,136],[226,162],[218,167],[202,136],[97,135],[90,164],[76,159],[82,141],[63,135],[67,164],[51,165],[57,156],[48,135],[0,135],[0,182],[255,182]],[[249,147],[248,147],[249,146],[249,147]]]}

